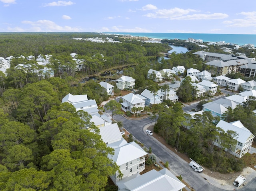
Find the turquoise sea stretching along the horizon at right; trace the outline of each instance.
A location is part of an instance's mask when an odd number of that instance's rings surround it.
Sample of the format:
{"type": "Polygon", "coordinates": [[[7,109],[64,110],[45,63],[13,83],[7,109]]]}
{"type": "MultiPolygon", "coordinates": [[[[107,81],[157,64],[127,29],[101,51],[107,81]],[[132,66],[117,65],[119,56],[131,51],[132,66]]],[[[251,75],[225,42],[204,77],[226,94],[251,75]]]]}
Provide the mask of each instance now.
{"type": "MultiPolygon", "coordinates": [[[[106,32],[110,33],[110,32],[106,32]]],[[[204,42],[219,42],[225,41],[226,43],[234,43],[237,45],[254,44],[256,46],[255,34],[205,34],[205,33],[110,33],[120,35],[132,36],[146,36],[156,39],[181,39],[187,40],[188,38],[202,39],[204,42]]]]}

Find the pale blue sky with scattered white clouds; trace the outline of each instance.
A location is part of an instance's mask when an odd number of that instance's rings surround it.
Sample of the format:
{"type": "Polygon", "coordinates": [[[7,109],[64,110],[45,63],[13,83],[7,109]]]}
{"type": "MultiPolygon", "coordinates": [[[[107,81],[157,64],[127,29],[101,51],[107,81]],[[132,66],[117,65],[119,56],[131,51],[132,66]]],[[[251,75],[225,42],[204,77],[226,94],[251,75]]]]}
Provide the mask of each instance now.
{"type": "Polygon", "coordinates": [[[0,0],[0,32],[256,34],[256,1],[0,0]]]}

